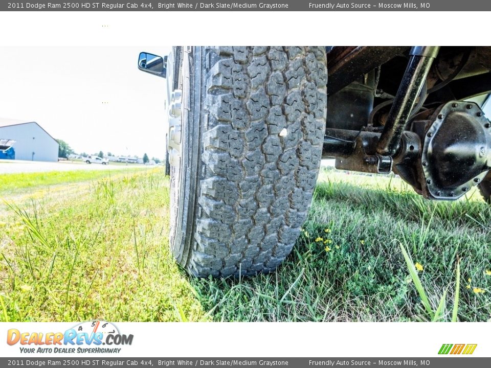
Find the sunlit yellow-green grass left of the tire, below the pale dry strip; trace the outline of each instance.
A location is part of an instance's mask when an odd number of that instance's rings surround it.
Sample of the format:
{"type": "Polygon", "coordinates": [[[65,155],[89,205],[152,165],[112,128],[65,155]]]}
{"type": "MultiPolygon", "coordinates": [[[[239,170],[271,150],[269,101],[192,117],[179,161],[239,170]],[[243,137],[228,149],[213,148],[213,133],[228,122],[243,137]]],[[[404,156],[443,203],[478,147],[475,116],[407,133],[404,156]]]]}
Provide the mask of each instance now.
{"type": "Polygon", "coordinates": [[[0,223],[0,316],[167,321],[181,308],[203,319],[168,251],[168,183],[161,170],[125,173],[54,203],[11,204],[0,223]]]}

